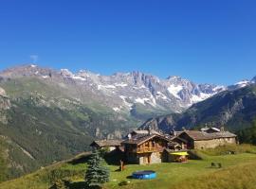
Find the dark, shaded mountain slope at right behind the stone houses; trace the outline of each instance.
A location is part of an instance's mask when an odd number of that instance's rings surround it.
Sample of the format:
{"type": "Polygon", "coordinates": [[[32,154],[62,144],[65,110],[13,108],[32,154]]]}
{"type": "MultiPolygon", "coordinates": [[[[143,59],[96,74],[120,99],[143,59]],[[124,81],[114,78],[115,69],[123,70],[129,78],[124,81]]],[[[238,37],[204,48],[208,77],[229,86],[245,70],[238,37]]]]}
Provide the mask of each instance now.
{"type": "Polygon", "coordinates": [[[225,125],[238,130],[250,127],[256,117],[256,85],[216,94],[205,101],[192,105],[184,113],[174,113],[149,119],[140,129],[173,129],[225,125]]]}

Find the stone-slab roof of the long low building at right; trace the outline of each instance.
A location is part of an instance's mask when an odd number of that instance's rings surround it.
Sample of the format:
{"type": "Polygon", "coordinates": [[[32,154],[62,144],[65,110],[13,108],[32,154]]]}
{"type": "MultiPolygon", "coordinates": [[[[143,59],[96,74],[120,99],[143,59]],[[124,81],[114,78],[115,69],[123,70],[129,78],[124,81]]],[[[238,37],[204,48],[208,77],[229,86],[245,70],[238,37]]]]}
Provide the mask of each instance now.
{"type": "Polygon", "coordinates": [[[186,130],[186,131],[182,132],[181,134],[183,134],[183,133],[188,134],[195,141],[236,137],[235,134],[233,134],[229,131],[220,131],[220,132],[208,133],[208,132],[198,131],[198,130],[186,130]]]}

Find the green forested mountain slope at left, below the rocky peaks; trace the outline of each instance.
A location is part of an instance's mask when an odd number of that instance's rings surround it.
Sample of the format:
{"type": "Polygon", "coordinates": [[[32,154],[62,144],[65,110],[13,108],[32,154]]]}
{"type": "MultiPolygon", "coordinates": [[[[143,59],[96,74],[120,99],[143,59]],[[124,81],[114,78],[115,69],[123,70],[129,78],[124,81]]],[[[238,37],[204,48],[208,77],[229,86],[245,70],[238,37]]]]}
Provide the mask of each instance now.
{"type": "Polygon", "coordinates": [[[88,150],[94,138],[121,137],[137,126],[136,120],[92,101],[85,105],[36,77],[2,80],[0,86],[0,135],[7,139],[9,178],[88,150]]]}

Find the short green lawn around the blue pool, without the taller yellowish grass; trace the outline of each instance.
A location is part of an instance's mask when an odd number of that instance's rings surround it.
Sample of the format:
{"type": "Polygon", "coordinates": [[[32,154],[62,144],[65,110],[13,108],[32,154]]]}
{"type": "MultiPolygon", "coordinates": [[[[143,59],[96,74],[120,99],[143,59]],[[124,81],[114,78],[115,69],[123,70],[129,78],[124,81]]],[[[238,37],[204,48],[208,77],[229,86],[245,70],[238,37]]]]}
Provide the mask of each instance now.
{"type": "Polygon", "coordinates": [[[129,180],[130,184],[122,188],[169,188],[172,185],[181,183],[183,180],[197,178],[198,176],[224,170],[230,166],[240,163],[256,163],[255,154],[238,154],[225,156],[208,156],[203,161],[189,161],[189,163],[160,163],[152,165],[127,165],[123,172],[116,172],[116,166],[110,166],[111,181],[106,188],[119,188],[121,180],[129,180]],[[223,168],[210,168],[210,163],[222,163],[223,168]],[[155,180],[132,180],[127,179],[134,171],[154,170],[157,173],[155,180]]]}

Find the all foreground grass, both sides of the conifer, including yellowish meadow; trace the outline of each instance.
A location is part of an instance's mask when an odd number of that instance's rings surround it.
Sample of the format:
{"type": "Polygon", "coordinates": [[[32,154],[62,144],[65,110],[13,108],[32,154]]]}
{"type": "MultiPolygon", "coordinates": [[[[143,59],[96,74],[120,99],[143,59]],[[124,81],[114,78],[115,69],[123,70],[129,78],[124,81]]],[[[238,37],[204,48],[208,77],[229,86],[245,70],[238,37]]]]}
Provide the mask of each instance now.
{"type": "MultiPolygon", "coordinates": [[[[104,185],[105,189],[250,189],[255,183],[256,154],[238,153],[214,156],[204,154],[204,160],[190,160],[189,163],[126,165],[123,172],[116,171],[119,166],[108,165],[108,167],[111,170],[111,178],[110,182],[104,185]],[[210,168],[210,163],[222,163],[223,167],[210,168]],[[157,178],[155,180],[129,178],[134,171],[145,169],[155,170],[157,178]],[[128,185],[120,187],[119,182],[122,180],[128,180],[128,185]],[[229,185],[232,187],[228,187],[229,185]]],[[[73,181],[71,189],[78,189],[78,186],[83,184],[85,169],[85,163],[57,163],[20,179],[3,182],[0,188],[46,189],[52,185],[54,180],[68,179],[73,181]]]]}

